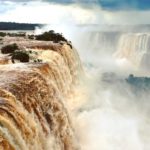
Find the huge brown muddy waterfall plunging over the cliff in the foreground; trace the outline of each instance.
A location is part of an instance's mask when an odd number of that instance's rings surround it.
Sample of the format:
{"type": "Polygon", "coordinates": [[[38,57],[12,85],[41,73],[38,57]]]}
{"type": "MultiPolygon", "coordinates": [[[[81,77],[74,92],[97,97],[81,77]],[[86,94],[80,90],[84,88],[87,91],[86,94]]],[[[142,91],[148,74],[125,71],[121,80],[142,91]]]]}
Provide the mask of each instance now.
{"type": "Polygon", "coordinates": [[[76,50],[66,43],[15,42],[43,62],[12,64],[8,56],[0,65],[0,149],[78,149],[64,105],[82,72],[76,50]]]}

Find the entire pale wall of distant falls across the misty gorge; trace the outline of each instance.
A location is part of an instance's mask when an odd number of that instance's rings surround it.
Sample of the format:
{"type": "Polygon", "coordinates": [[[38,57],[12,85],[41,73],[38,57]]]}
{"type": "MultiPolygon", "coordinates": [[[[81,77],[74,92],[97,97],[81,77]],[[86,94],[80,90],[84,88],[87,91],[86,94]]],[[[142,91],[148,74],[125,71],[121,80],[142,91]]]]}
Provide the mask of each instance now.
{"type": "MultiPolygon", "coordinates": [[[[126,60],[137,68],[148,69],[150,33],[132,31],[83,31],[76,39],[78,49],[82,49],[81,58],[94,55],[108,56],[116,60],[126,60]],[[81,35],[80,35],[81,34],[81,35]],[[84,41],[84,44],[82,44],[84,41]],[[83,56],[82,56],[83,55],[83,56]],[[113,57],[114,58],[113,58],[113,57]]],[[[103,58],[103,57],[102,57],[103,58]]],[[[101,59],[102,59],[101,58],[101,59]]],[[[109,58],[108,58],[109,59],[109,58]]]]}

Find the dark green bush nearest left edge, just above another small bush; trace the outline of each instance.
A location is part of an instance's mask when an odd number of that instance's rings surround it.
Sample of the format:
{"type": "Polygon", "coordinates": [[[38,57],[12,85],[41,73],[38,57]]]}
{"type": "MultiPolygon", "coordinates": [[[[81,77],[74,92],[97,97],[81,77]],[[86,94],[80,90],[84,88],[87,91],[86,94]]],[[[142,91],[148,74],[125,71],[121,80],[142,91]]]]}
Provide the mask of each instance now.
{"type": "Polygon", "coordinates": [[[1,53],[2,54],[9,54],[9,53],[13,53],[15,50],[18,50],[19,47],[16,43],[14,44],[10,44],[10,45],[6,45],[4,47],[1,48],[1,53]]]}

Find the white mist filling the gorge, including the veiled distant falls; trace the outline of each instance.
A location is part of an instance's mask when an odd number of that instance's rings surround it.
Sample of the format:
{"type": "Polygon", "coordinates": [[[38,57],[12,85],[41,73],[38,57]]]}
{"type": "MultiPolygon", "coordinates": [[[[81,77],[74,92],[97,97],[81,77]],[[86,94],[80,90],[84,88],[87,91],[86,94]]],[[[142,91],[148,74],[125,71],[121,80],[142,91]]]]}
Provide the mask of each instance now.
{"type": "Polygon", "coordinates": [[[82,150],[150,149],[146,30],[82,27],[68,33],[87,75],[82,94],[73,104],[78,104],[73,119],[82,150]],[[137,84],[127,82],[129,74],[137,84]]]}

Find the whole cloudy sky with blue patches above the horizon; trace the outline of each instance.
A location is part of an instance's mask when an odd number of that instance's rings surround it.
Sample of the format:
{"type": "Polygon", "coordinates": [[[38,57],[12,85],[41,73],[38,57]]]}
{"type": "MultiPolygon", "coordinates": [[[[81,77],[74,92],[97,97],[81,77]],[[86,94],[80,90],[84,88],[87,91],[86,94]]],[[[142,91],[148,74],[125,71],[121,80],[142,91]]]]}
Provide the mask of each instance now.
{"type": "Polygon", "coordinates": [[[150,0],[0,0],[0,21],[150,24],[150,0]]]}

